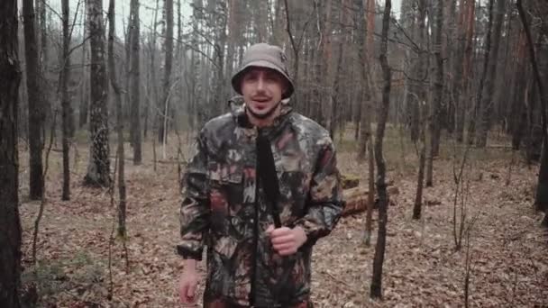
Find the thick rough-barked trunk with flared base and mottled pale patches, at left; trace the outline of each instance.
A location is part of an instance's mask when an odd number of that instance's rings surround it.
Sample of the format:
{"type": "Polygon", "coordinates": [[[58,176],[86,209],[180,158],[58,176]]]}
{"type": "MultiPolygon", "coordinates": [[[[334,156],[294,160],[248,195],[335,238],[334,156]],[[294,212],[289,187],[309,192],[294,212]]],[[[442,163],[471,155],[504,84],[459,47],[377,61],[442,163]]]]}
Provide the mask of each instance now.
{"type": "Polygon", "coordinates": [[[87,21],[91,37],[90,91],[91,108],[89,119],[89,165],[84,184],[87,186],[109,186],[110,161],[108,145],[108,109],[105,68],[105,29],[103,27],[102,0],[87,0],[87,21]]]}

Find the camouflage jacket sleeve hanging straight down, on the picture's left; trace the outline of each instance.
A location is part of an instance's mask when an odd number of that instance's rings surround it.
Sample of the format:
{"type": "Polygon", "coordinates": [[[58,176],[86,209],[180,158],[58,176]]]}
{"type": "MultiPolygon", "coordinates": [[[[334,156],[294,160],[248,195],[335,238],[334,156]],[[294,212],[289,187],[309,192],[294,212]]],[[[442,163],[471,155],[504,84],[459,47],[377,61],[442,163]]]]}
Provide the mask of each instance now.
{"type": "Polygon", "coordinates": [[[196,154],[183,177],[183,202],[180,208],[178,254],[185,259],[202,259],[209,231],[209,197],[207,184],[207,148],[204,133],[196,142],[196,154]]]}

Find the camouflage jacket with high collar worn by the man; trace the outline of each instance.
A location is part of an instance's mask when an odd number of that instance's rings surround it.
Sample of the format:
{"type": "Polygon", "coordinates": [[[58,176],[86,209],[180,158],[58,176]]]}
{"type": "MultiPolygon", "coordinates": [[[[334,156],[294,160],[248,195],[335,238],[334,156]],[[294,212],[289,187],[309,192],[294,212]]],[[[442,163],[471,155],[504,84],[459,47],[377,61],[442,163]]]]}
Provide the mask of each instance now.
{"type": "Polygon", "coordinates": [[[279,307],[276,290],[285,270],[291,271],[291,303],[306,300],[312,246],[333,230],[343,207],[328,132],[288,105],[272,126],[258,130],[238,107],[207,122],[196,143],[183,178],[178,254],[200,260],[207,247],[205,302],[279,307]],[[274,252],[265,232],[273,219],[262,186],[256,186],[259,133],[271,141],[280,220],[306,231],[307,241],[290,263],[274,252]]]}

